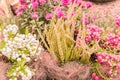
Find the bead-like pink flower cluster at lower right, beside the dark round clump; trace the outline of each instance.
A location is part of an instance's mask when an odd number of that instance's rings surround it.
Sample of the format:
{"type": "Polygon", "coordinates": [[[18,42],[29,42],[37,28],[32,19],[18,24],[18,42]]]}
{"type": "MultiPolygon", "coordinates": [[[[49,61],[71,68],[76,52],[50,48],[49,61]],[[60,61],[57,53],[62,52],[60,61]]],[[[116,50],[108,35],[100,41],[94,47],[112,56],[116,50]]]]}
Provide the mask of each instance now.
{"type": "Polygon", "coordinates": [[[98,53],[97,61],[101,65],[106,65],[108,68],[106,74],[108,76],[116,75],[120,71],[120,59],[117,58],[117,55],[108,54],[108,53],[98,53]]]}

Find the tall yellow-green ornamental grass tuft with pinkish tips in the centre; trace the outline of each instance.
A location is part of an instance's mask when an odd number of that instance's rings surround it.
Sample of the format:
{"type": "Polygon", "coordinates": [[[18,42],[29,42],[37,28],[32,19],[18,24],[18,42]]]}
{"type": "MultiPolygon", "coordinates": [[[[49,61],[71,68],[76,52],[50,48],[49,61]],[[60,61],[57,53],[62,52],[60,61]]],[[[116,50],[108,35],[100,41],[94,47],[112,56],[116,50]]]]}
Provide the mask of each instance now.
{"type": "MultiPolygon", "coordinates": [[[[84,9],[75,3],[71,4],[66,11],[66,18],[63,17],[64,15],[57,18],[58,16],[56,12],[58,10],[61,11],[61,7],[56,6],[54,9],[54,15],[52,19],[50,19],[50,24],[48,25],[49,29],[45,27],[43,33],[37,29],[43,44],[60,63],[65,63],[71,60],[89,62],[91,53],[89,52],[88,46],[84,40],[86,34],[85,24],[79,20],[79,18],[83,16],[84,9]],[[73,12],[74,15],[72,15],[73,12]],[[77,40],[74,40],[74,32],[76,28],[78,28],[78,31],[82,33],[80,35],[82,36],[82,39],[80,40],[80,46],[76,46],[77,40]]],[[[78,38],[79,36],[77,36],[76,39],[78,38]]]]}

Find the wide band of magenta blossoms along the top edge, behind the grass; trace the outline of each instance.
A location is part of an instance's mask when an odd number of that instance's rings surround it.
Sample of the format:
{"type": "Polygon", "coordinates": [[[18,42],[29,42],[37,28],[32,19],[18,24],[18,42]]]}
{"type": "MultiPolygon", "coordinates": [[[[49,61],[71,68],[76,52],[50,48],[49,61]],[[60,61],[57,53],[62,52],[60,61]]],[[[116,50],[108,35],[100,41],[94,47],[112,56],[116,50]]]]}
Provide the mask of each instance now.
{"type": "MultiPolygon", "coordinates": [[[[31,12],[31,18],[37,19],[40,18],[40,16],[44,16],[46,20],[49,20],[53,17],[53,14],[55,12],[55,15],[58,18],[65,18],[66,19],[66,13],[63,8],[66,6],[75,3],[76,5],[82,6],[82,8],[89,8],[92,6],[91,2],[84,2],[82,0],[19,0],[20,7],[16,10],[17,16],[21,16],[24,12],[24,10],[27,8],[31,12]],[[50,10],[46,10],[44,15],[39,14],[38,8],[43,9],[42,7],[46,7],[51,3],[53,5],[50,6],[50,10]],[[47,4],[47,5],[46,5],[47,4]],[[59,6],[58,6],[59,4],[59,6]],[[45,6],[46,5],[46,6],[45,6]]],[[[73,14],[74,15],[74,11],[73,14]]]]}

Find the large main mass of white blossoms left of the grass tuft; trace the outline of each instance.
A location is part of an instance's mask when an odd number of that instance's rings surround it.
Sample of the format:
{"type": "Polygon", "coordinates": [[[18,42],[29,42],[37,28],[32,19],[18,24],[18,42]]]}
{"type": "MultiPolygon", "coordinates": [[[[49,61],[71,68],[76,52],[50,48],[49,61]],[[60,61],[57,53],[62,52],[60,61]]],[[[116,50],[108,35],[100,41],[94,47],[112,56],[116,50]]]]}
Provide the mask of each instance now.
{"type": "Polygon", "coordinates": [[[5,42],[6,46],[1,49],[0,51],[3,53],[3,55],[7,56],[8,58],[16,59],[19,56],[22,56],[22,58],[25,58],[26,60],[30,56],[36,56],[39,55],[41,52],[41,47],[39,46],[39,40],[36,39],[36,35],[33,35],[31,33],[25,35],[25,34],[19,34],[17,33],[18,27],[16,25],[8,25],[3,33],[5,36],[5,42]],[[12,34],[16,34],[14,38],[9,39],[7,33],[11,32],[12,34]],[[22,51],[19,51],[18,49],[26,49],[27,52],[29,52],[29,55],[25,55],[25,53],[22,53],[22,51]]]}

